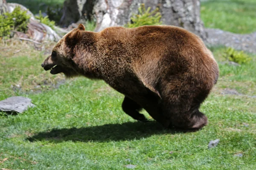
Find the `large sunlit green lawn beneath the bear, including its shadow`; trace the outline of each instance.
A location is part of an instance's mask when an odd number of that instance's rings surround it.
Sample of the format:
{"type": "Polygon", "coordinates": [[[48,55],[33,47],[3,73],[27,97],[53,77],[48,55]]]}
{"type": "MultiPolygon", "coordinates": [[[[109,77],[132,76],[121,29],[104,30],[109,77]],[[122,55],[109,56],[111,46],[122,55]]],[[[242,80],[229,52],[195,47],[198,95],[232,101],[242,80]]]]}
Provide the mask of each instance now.
{"type": "MultiPolygon", "coordinates": [[[[0,53],[0,99],[27,96],[36,107],[17,115],[0,114],[0,168],[125,170],[134,164],[138,170],[256,169],[256,106],[255,98],[248,97],[256,95],[254,55],[248,65],[219,65],[218,84],[201,106],[209,125],[181,133],[164,130],[153,120],[134,121],[121,109],[123,95],[102,81],[76,78],[58,89],[31,93],[57,77],[40,66],[46,54],[24,43],[11,45],[15,49],[0,53]],[[20,46],[26,51],[13,54],[20,46]],[[9,88],[18,83],[20,91],[9,88]],[[244,95],[222,95],[224,88],[244,95]],[[220,143],[208,149],[214,139],[220,143]]],[[[224,48],[212,51],[221,62],[224,48]]]]}

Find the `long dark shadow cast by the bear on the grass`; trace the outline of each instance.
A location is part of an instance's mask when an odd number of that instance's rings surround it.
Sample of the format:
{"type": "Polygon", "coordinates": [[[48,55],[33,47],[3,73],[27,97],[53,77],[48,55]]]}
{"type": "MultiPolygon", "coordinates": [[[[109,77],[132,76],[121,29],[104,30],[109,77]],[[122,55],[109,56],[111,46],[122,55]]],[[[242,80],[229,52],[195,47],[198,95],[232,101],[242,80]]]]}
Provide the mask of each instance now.
{"type": "Polygon", "coordinates": [[[47,132],[40,132],[27,138],[30,142],[49,141],[53,143],[73,141],[73,142],[107,142],[124,141],[146,138],[155,134],[183,133],[172,129],[163,129],[155,122],[126,122],[123,124],[107,124],[91,127],[72,127],[63,129],[52,129],[47,132]]]}

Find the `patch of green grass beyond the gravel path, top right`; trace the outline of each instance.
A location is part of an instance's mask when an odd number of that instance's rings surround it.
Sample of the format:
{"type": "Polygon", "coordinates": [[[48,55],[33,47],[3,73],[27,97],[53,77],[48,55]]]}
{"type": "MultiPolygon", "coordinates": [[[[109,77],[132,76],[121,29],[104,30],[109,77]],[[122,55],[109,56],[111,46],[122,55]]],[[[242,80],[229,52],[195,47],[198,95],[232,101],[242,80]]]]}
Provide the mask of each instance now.
{"type": "Polygon", "coordinates": [[[239,34],[256,31],[256,0],[207,0],[201,2],[201,18],[209,28],[239,34]]]}

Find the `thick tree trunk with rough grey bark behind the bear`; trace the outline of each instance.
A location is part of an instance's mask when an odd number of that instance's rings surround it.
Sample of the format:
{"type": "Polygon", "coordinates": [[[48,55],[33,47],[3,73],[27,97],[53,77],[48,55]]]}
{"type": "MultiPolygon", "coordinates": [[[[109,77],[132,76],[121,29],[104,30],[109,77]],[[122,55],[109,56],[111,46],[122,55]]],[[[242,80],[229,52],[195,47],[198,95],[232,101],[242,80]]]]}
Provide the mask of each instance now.
{"type": "Polygon", "coordinates": [[[206,40],[200,19],[200,0],[66,0],[60,24],[68,26],[78,20],[95,20],[95,31],[123,26],[138,13],[141,3],[152,10],[159,8],[163,24],[183,27],[206,40]]]}

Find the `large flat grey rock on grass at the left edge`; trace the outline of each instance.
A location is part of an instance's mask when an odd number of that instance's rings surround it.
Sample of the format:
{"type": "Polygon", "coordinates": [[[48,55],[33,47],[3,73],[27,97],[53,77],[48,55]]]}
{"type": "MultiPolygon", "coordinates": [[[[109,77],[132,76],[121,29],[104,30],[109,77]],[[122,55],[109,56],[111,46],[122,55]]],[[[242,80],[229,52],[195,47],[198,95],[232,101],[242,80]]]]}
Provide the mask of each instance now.
{"type": "Polygon", "coordinates": [[[0,101],[0,111],[22,113],[29,107],[34,107],[31,99],[22,96],[9,97],[0,101]]]}

